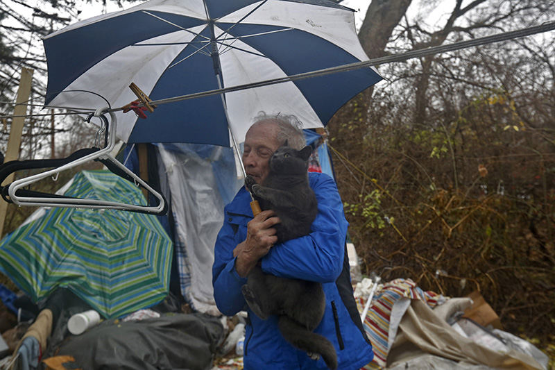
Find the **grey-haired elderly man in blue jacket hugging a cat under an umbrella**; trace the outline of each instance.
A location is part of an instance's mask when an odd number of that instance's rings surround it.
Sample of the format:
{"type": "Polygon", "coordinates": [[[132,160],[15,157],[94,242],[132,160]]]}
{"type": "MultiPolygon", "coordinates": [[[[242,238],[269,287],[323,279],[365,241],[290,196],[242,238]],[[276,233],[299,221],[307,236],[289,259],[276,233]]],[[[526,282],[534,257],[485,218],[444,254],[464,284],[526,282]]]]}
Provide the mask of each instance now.
{"type": "MultiPolygon", "coordinates": [[[[246,134],[243,163],[246,173],[262,183],[268,162],[284,142],[296,149],[305,145],[300,124],[294,116],[261,115],[246,134]]],[[[272,210],[256,217],[250,210],[250,195],[243,187],[225,207],[223,226],[216,239],[212,284],[219,310],[228,316],[248,310],[244,343],[245,369],[326,369],[322,359],[291,346],[278,330],[277,317],[259,319],[250,312],[241,294],[246,276],[258,262],[267,274],[322,283],[326,308],[315,333],[334,344],[338,369],[359,369],[373,358],[350,285],[345,249],[348,223],[335,182],[325,174],[309,174],[318,199],[318,215],[311,233],[275,244],[275,224],[280,219],[272,210]]]]}

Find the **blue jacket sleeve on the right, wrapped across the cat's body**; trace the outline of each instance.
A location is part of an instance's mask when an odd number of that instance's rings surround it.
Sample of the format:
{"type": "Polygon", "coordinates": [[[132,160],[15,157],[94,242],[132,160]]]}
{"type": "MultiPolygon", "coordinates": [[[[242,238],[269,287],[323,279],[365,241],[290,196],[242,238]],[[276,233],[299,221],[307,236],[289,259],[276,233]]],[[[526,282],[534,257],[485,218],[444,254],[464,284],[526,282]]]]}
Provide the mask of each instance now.
{"type": "Polygon", "coordinates": [[[262,259],[264,272],[319,283],[334,282],[341,274],[348,226],[343,203],[330,176],[314,178],[311,187],[318,200],[318,215],[311,233],[273,246],[262,259]]]}

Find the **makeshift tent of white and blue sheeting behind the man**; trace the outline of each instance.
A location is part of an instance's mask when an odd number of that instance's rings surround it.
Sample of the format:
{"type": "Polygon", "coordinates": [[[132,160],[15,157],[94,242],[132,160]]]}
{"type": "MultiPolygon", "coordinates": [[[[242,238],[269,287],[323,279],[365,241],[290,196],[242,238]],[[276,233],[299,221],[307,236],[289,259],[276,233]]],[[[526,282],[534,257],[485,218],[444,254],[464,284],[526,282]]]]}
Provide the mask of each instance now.
{"type": "MultiPolygon", "coordinates": [[[[311,145],[311,171],[333,177],[325,139],[305,130],[311,145]]],[[[140,145],[140,144],[139,144],[140,145]]],[[[196,311],[218,315],[212,290],[214,244],[223,222],[223,207],[244,184],[232,149],[205,144],[146,144],[146,162],[139,163],[140,146],[127,146],[121,161],[139,174],[148,167],[148,180],[169,203],[162,216],[174,243],[171,289],[196,311]]]]}

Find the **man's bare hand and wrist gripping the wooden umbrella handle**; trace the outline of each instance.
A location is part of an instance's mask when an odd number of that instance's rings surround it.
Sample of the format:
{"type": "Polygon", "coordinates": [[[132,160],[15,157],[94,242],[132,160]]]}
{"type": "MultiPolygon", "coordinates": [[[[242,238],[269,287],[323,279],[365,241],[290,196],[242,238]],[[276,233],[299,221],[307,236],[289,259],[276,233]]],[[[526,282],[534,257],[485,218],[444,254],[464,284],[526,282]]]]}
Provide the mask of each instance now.
{"type": "Polygon", "coordinates": [[[273,244],[278,242],[273,226],[279,223],[280,219],[275,217],[273,210],[262,211],[248,222],[245,241],[238,244],[233,250],[233,256],[237,256],[235,269],[239,276],[247,276],[258,260],[270,251],[273,244]]]}

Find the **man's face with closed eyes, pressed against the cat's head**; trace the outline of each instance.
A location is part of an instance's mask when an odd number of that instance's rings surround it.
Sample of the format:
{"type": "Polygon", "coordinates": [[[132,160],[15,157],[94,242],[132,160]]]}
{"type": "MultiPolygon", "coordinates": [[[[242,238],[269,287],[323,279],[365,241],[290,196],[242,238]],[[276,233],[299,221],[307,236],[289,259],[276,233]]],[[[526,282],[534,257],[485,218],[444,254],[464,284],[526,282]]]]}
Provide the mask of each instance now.
{"type": "Polygon", "coordinates": [[[268,176],[270,158],[281,146],[277,139],[278,129],[273,121],[259,121],[247,131],[243,165],[247,175],[253,176],[257,184],[268,176]]]}

